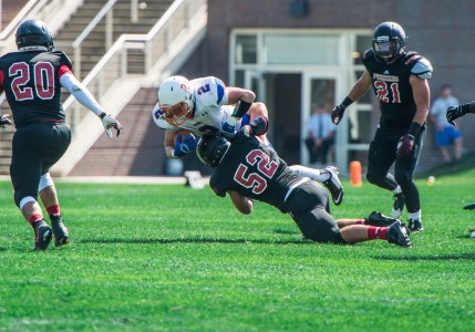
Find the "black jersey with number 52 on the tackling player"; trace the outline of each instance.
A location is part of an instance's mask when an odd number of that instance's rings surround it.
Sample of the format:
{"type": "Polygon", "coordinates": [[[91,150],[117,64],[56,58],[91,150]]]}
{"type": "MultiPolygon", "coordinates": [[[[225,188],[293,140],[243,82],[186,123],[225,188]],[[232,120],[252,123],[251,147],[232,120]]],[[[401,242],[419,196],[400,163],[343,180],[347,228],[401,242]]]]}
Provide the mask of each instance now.
{"type": "Polygon", "coordinates": [[[209,186],[220,197],[226,196],[226,190],[235,190],[287,212],[286,196],[301,180],[273,149],[261,144],[249,133],[249,126],[245,126],[214,169],[209,186]]]}

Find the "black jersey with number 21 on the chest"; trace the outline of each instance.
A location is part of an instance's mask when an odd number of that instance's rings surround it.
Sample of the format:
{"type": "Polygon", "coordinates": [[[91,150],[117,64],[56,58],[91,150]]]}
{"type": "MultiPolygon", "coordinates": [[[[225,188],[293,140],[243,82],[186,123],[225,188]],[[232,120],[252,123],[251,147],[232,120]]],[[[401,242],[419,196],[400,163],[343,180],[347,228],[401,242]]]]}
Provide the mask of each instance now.
{"type": "Polygon", "coordinates": [[[431,63],[415,52],[407,52],[392,64],[380,62],[372,49],[363,55],[363,63],[373,81],[373,91],[380,101],[381,124],[409,126],[415,115],[416,105],[410,76],[432,76],[431,63]]]}

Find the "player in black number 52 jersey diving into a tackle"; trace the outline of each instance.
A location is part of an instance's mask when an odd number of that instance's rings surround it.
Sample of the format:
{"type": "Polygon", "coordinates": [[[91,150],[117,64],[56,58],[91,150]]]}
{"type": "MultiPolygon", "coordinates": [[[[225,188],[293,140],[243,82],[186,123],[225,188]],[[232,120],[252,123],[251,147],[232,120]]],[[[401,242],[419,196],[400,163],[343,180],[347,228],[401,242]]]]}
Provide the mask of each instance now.
{"type": "Polygon", "coordinates": [[[229,195],[245,215],[257,199],[289,214],[308,239],[318,242],[352,243],[384,239],[411,247],[405,226],[396,219],[373,212],[365,219],[334,220],[329,196],[322,186],[290,169],[277,153],[260,139],[267,120],[256,117],[229,142],[209,134],[198,142],[198,158],[214,168],[209,185],[216,195],[229,195]],[[365,224],[365,225],[363,225],[365,224]],[[376,227],[378,226],[378,227],[376,227]]]}

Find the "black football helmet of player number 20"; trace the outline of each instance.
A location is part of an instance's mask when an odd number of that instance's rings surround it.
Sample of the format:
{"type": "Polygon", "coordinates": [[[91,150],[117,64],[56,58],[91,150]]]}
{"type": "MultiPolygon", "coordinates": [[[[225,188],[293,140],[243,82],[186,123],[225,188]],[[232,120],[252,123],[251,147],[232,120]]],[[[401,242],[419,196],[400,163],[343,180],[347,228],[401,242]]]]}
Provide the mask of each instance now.
{"type": "Polygon", "coordinates": [[[18,49],[28,48],[47,48],[48,51],[54,49],[53,34],[47,24],[40,20],[23,21],[17,29],[18,49]]]}

